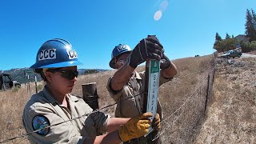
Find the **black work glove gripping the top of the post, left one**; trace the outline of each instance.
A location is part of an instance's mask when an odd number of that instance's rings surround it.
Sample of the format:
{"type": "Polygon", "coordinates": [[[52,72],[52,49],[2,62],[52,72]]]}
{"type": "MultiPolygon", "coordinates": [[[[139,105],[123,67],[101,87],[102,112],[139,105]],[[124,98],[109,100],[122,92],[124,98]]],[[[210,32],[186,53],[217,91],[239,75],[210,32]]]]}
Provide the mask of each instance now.
{"type": "Polygon", "coordinates": [[[142,39],[129,56],[129,65],[134,69],[147,59],[160,61],[164,52],[162,44],[155,35],[142,39]]]}

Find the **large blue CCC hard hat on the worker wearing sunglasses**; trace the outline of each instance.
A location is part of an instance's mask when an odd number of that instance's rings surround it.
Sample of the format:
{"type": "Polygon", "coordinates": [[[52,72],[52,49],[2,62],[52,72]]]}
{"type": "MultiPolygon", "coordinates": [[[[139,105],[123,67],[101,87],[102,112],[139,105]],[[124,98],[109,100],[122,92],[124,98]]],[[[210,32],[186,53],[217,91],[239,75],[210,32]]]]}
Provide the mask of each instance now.
{"type": "Polygon", "coordinates": [[[82,65],[82,62],[78,62],[78,54],[72,49],[70,42],[61,38],[54,38],[42,44],[38,50],[36,62],[30,68],[42,69],[78,65],[82,65]]]}

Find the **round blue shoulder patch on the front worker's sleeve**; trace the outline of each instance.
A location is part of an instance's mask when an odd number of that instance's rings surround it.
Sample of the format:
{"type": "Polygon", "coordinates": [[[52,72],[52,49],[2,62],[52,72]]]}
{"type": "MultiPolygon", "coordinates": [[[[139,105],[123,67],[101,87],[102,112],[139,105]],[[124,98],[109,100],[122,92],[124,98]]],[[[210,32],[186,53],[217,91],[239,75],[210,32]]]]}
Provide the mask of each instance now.
{"type": "Polygon", "coordinates": [[[46,135],[49,133],[50,131],[50,127],[44,129],[46,126],[50,126],[50,121],[48,118],[46,118],[46,116],[43,115],[36,115],[34,116],[33,120],[32,120],[32,127],[34,130],[40,130],[37,132],[37,134],[39,135],[46,135]]]}

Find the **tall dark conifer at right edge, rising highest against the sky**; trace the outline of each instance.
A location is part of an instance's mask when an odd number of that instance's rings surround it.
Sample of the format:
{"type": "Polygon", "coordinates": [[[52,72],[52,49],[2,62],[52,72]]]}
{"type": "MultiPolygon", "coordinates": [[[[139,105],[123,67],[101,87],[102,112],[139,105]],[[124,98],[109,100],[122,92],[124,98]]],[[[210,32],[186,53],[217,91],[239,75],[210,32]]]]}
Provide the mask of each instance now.
{"type": "Polygon", "coordinates": [[[250,10],[246,9],[246,37],[250,38],[249,41],[255,41],[256,40],[256,15],[254,13],[254,10],[252,10],[252,14],[250,13],[250,10]]]}

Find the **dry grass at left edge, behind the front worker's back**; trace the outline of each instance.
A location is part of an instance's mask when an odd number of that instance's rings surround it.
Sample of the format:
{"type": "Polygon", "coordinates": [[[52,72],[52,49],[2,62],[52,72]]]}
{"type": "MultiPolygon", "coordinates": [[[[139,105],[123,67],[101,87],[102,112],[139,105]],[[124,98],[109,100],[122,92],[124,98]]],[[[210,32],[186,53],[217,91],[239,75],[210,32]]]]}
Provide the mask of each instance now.
{"type": "MultiPolygon", "coordinates": [[[[26,131],[22,126],[22,112],[23,108],[30,98],[30,94],[27,86],[22,85],[19,90],[7,90],[0,92],[0,104],[1,104],[1,141],[7,138],[13,138],[24,134],[26,131]]],[[[30,84],[30,93],[33,94],[35,90],[34,83],[30,84]]],[[[18,138],[7,143],[28,143],[26,138],[18,138]]]]}

